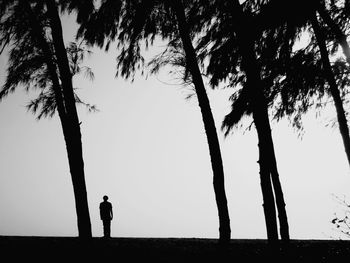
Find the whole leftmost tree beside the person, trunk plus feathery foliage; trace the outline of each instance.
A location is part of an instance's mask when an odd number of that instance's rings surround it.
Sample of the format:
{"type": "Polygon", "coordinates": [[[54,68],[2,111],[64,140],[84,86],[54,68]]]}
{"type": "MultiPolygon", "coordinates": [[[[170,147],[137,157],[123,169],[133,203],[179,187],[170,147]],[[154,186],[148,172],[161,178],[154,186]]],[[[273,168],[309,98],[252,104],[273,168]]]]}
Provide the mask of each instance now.
{"type": "Polygon", "coordinates": [[[76,67],[71,68],[74,61],[69,61],[63,43],[57,3],[54,0],[3,1],[0,21],[1,50],[5,46],[10,49],[8,74],[0,98],[18,86],[23,85],[27,90],[39,88],[42,92],[29,104],[29,109],[36,112],[41,107],[38,118],[58,111],[73,182],[79,237],[89,238],[91,223],[76,111],[76,102],[82,101],[74,94],[72,84],[79,59],[75,60],[76,67]]]}

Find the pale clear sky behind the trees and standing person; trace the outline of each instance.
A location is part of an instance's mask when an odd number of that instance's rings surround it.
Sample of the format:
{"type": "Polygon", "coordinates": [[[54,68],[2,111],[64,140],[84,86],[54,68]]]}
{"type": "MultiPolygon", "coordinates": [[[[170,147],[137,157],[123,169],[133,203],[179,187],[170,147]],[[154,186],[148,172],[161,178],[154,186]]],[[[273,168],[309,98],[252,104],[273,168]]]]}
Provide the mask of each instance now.
{"type": "MultiPolygon", "coordinates": [[[[65,36],[74,32],[65,20],[65,36]]],[[[6,56],[0,56],[0,84],[6,56]]],[[[196,97],[162,71],[135,81],[115,78],[115,52],[94,49],[85,64],[95,80],[74,80],[97,113],[79,107],[92,230],[102,235],[98,205],[109,196],[115,237],[218,237],[208,145],[196,97]],[[172,85],[168,85],[169,83],[172,85]]],[[[266,238],[257,136],[219,130],[230,90],[208,90],[216,120],[232,238],[266,238]]],[[[37,121],[21,87],[0,103],[0,235],[76,236],[74,196],[60,121],[37,121]]],[[[287,121],[272,122],[291,238],[337,238],[331,220],[350,196],[350,173],[330,107],[305,117],[302,139],[287,121]]],[[[251,122],[246,119],[245,127],[251,122]]]]}

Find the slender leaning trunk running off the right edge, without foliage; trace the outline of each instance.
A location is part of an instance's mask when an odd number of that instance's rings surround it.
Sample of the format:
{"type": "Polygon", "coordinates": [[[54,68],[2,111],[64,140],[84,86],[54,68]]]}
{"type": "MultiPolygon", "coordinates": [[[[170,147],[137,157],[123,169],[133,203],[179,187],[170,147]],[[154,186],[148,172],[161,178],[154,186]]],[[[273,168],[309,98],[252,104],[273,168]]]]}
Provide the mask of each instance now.
{"type": "Polygon", "coordinates": [[[334,100],[334,105],[335,109],[337,112],[337,118],[338,118],[338,123],[339,123],[339,130],[340,134],[343,139],[343,144],[345,148],[345,153],[348,158],[348,163],[350,165],[350,137],[349,137],[349,127],[345,115],[345,110],[343,106],[343,101],[340,96],[340,92],[337,86],[337,83],[334,78],[334,74],[332,71],[331,63],[329,61],[328,57],[328,50],[326,46],[326,41],[323,36],[323,33],[319,27],[318,20],[316,17],[316,14],[312,17],[312,28],[314,30],[318,46],[320,48],[320,53],[321,53],[321,60],[323,64],[323,69],[325,72],[325,76],[327,79],[327,82],[329,84],[329,89],[332,95],[332,98],[334,100]]]}

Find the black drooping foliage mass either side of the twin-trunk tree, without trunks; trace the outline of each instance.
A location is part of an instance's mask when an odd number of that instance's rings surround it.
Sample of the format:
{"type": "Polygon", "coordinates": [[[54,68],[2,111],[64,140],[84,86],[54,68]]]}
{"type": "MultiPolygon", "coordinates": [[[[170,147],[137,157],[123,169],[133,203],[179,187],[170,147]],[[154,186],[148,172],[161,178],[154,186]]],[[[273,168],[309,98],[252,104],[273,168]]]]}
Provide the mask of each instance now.
{"type": "MultiPolygon", "coordinates": [[[[251,114],[251,110],[247,92],[244,92],[246,76],[240,66],[241,54],[233,33],[234,25],[227,21],[229,15],[220,15],[227,13],[227,10],[220,10],[216,2],[207,9],[216,12],[216,18],[206,23],[199,21],[206,25],[206,34],[198,41],[197,50],[200,54],[198,57],[206,63],[205,75],[210,76],[212,87],[225,82],[233,88],[230,98],[232,110],[222,124],[228,135],[244,115],[251,114]]],[[[348,32],[345,7],[348,4],[340,0],[333,2],[337,3],[329,3],[327,11],[333,21],[339,24],[341,31],[348,32]]],[[[302,129],[302,116],[309,109],[324,106],[325,95],[329,94],[317,42],[309,23],[311,14],[316,12],[320,4],[318,1],[299,5],[293,1],[284,1],[281,4],[279,1],[245,1],[242,4],[244,12],[252,21],[251,27],[247,28],[254,29],[247,29],[246,33],[255,38],[264,93],[272,116],[277,120],[286,116],[296,128],[302,129]],[[286,14],[288,10],[293,14],[290,10],[296,8],[301,9],[298,16],[286,14]],[[309,36],[306,47],[305,43],[300,43],[306,41],[305,35],[309,36]],[[298,45],[304,46],[298,48],[298,45]]],[[[325,25],[323,32],[329,43],[330,56],[333,56],[339,49],[334,32],[325,25]]]]}

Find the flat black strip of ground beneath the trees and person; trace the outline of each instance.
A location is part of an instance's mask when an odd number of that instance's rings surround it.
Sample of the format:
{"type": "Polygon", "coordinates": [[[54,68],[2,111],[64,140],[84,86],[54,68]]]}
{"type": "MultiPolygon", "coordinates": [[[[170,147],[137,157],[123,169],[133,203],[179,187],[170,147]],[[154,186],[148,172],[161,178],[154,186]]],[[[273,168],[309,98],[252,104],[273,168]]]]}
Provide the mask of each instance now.
{"type": "Polygon", "coordinates": [[[233,239],[223,249],[216,239],[0,236],[0,254],[6,262],[349,262],[350,241],[292,240],[272,249],[266,240],[233,239]]]}

